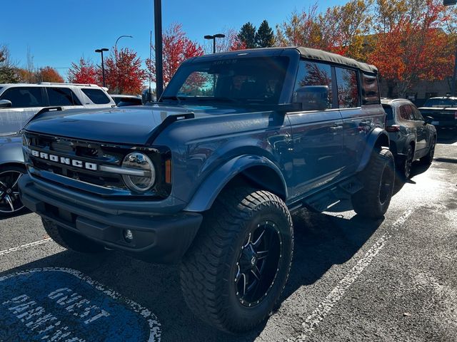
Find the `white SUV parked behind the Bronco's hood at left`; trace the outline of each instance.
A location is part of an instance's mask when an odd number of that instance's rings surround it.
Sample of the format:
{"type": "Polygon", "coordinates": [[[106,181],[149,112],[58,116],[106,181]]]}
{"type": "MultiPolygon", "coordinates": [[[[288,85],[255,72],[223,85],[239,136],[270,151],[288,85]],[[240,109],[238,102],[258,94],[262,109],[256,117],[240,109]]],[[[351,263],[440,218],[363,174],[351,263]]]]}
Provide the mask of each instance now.
{"type": "Polygon", "coordinates": [[[16,133],[42,108],[111,108],[106,88],[94,84],[0,84],[0,135],[16,133]]]}

